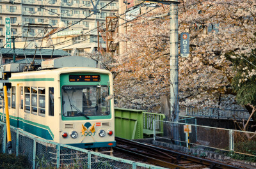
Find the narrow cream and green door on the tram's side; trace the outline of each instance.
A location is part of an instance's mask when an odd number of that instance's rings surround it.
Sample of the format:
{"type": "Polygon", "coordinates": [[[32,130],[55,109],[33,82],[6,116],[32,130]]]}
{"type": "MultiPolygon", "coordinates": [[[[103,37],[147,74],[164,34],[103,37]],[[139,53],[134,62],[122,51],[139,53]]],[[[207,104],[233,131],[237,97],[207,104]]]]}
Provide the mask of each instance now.
{"type": "Polygon", "coordinates": [[[18,84],[18,108],[17,108],[17,119],[18,122],[18,128],[24,129],[23,121],[20,121],[21,119],[24,119],[24,86],[22,84],[18,84]]]}

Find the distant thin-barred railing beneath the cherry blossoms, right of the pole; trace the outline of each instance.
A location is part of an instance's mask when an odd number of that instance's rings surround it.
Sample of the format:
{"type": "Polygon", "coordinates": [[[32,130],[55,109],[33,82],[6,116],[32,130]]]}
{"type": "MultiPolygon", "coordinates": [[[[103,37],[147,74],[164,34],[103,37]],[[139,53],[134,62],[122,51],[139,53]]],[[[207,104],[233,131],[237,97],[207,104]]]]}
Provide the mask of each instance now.
{"type": "Polygon", "coordinates": [[[248,119],[250,114],[246,110],[232,110],[232,109],[221,109],[221,108],[196,108],[187,107],[186,115],[195,117],[209,117],[217,119],[248,119]]]}

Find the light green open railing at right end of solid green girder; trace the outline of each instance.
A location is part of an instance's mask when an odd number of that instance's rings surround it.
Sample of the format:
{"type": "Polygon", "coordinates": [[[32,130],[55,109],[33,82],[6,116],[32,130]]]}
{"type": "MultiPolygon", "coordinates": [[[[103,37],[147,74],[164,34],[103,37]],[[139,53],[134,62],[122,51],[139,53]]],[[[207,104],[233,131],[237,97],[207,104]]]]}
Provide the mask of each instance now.
{"type": "Polygon", "coordinates": [[[165,119],[164,114],[155,114],[155,113],[149,113],[149,112],[143,112],[143,134],[144,135],[153,135],[154,134],[154,128],[153,128],[153,121],[157,120],[156,122],[156,134],[163,134],[164,132],[164,126],[163,121],[165,119]]]}

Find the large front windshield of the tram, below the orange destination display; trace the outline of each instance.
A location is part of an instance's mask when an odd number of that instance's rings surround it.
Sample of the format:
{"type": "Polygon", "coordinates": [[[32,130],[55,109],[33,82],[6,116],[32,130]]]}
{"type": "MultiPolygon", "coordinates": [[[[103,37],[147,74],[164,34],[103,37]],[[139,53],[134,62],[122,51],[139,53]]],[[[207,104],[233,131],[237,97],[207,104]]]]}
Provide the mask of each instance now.
{"type": "Polygon", "coordinates": [[[63,115],[67,117],[109,115],[108,86],[65,85],[61,89],[63,115]]]}

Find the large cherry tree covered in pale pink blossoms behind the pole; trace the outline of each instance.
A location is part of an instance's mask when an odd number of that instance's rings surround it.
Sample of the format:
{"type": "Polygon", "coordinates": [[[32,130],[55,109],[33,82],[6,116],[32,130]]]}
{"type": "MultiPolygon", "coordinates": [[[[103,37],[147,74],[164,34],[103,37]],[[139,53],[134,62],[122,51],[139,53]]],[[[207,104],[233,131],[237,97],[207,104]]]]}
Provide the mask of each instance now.
{"type": "MultiPolygon", "coordinates": [[[[179,58],[180,105],[238,107],[231,88],[236,72],[227,54],[246,57],[255,48],[256,2],[189,0],[179,4],[179,33],[190,34],[190,55],[179,58]],[[215,27],[215,29],[214,29],[215,27]]],[[[159,112],[159,97],[170,94],[170,19],[148,20],[169,6],[141,7],[142,17],[127,24],[116,41],[125,52],[115,56],[115,96],[120,107],[159,112]]],[[[255,70],[250,71],[253,73],[255,70]]]]}

